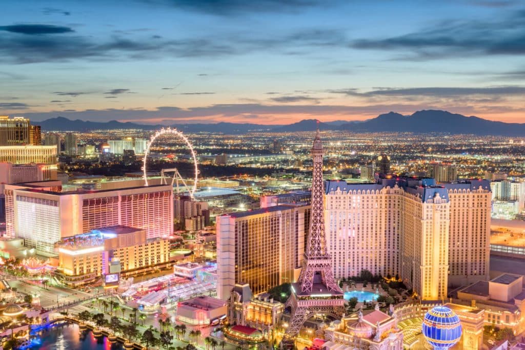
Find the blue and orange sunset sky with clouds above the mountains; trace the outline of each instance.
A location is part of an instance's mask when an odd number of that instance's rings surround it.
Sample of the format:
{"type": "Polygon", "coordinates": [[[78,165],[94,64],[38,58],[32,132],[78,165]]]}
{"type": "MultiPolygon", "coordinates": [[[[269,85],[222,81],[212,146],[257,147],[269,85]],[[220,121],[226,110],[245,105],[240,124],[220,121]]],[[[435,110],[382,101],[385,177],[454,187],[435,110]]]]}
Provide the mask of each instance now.
{"type": "Polygon", "coordinates": [[[525,122],[525,2],[8,1],[0,81],[35,121],[525,122]]]}

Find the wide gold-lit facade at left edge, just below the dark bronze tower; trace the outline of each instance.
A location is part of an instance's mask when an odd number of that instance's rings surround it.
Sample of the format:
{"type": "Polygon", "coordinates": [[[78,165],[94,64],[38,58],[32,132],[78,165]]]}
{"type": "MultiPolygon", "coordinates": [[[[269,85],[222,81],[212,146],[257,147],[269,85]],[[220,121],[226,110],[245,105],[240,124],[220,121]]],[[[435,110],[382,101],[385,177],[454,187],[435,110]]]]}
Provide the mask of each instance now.
{"type": "Polygon", "coordinates": [[[0,162],[13,164],[57,164],[56,146],[0,146],[0,162]]]}

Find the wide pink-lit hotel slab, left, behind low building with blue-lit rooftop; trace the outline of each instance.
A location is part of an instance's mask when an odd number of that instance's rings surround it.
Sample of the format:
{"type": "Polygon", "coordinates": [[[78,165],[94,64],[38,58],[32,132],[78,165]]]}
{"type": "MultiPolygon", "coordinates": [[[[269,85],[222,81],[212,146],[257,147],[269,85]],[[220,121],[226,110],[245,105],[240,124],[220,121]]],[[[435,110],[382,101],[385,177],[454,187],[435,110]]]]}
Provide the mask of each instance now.
{"type": "Polygon", "coordinates": [[[131,226],[145,230],[148,239],[173,233],[171,185],[60,190],[6,185],[7,236],[24,238],[28,247],[53,252],[61,238],[100,227],[131,226]]]}

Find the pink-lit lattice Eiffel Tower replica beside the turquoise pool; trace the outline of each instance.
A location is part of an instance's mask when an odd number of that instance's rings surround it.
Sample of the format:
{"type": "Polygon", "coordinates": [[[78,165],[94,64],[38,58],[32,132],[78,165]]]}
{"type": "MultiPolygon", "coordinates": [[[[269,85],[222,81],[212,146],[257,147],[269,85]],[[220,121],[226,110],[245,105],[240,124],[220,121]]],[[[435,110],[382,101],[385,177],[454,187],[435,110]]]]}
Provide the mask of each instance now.
{"type": "Polygon", "coordinates": [[[333,278],[332,261],[324,236],[323,206],[323,145],[319,129],[312,147],[313,176],[310,231],[304,261],[297,283],[286,302],[291,307],[291,319],[281,347],[293,347],[302,325],[316,314],[339,318],[344,313],[343,292],[333,278]]]}

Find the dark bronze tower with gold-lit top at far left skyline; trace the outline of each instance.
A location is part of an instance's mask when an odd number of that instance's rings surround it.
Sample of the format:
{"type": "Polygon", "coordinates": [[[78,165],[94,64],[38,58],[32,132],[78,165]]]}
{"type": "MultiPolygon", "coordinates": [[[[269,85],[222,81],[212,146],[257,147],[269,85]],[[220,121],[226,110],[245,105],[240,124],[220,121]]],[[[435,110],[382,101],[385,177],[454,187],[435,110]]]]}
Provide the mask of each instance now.
{"type": "Polygon", "coordinates": [[[0,115],[0,146],[39,145],[40,126],[23,117],[0,115]]]}

